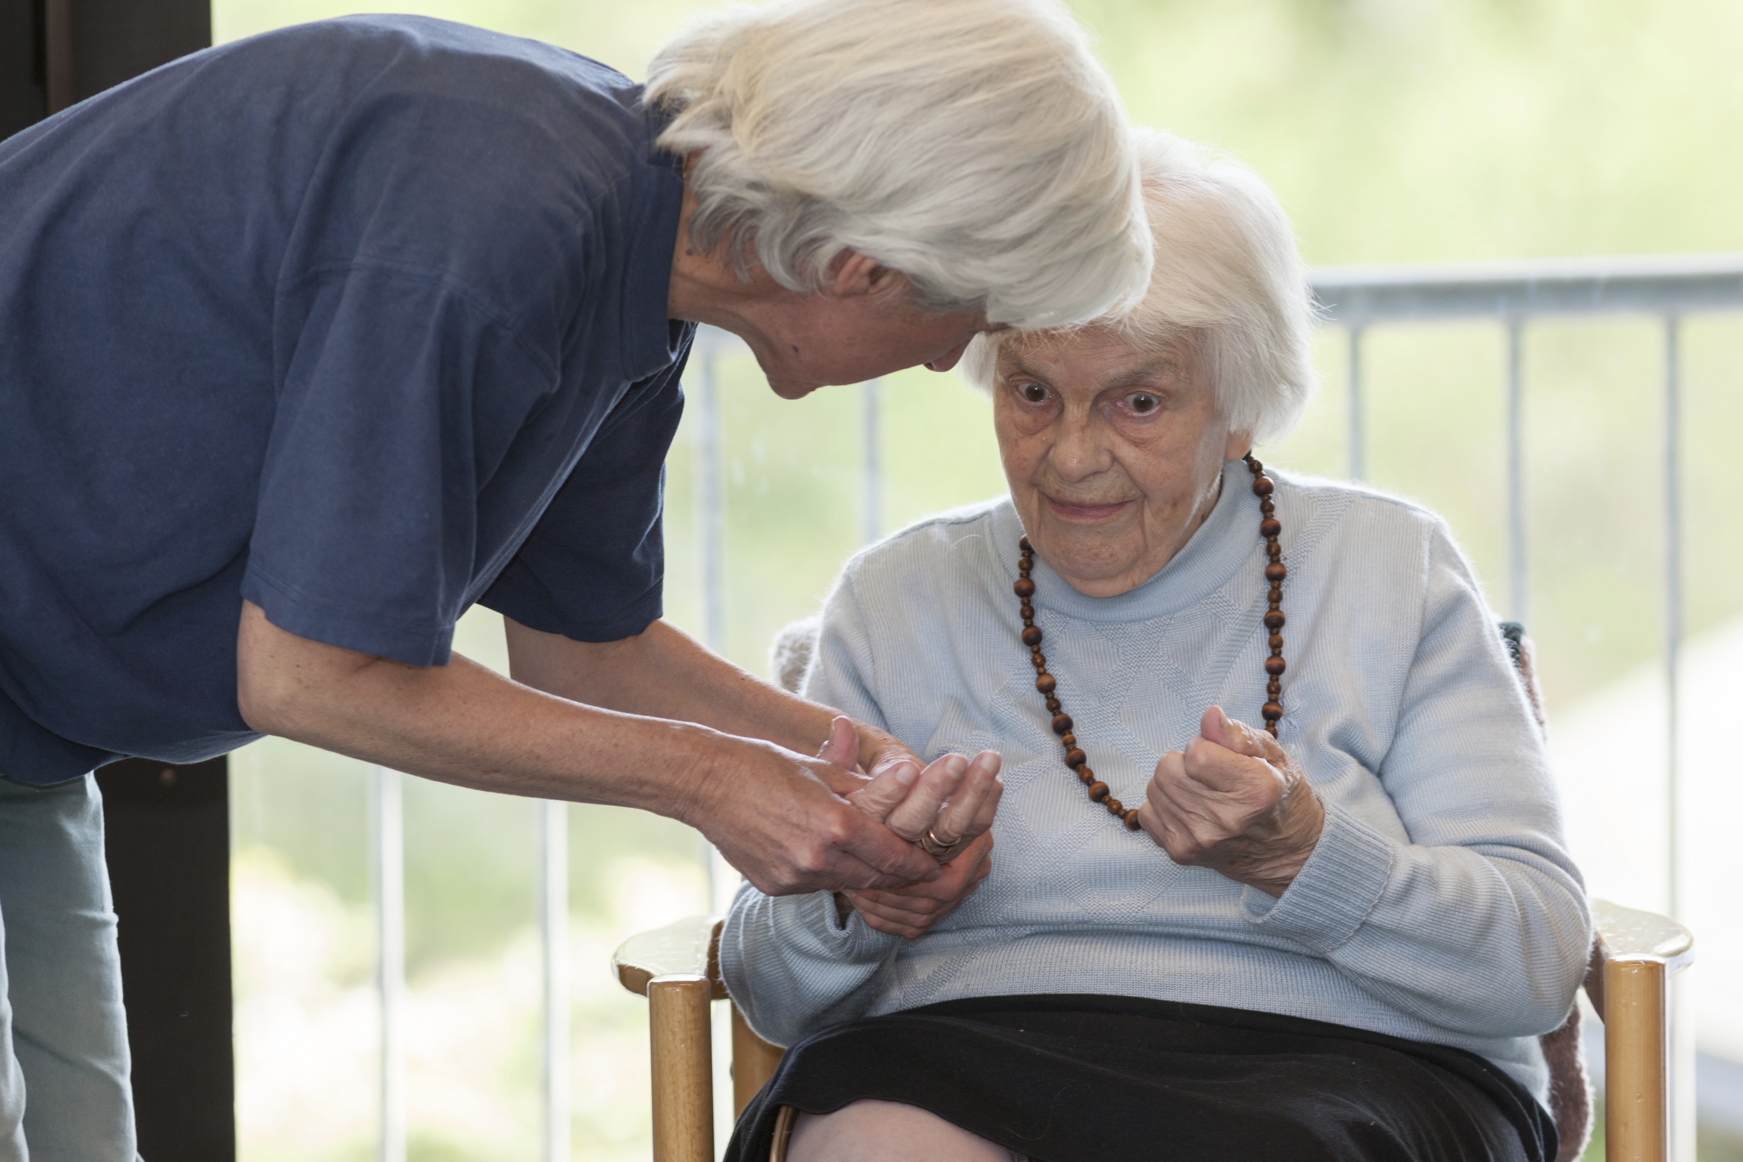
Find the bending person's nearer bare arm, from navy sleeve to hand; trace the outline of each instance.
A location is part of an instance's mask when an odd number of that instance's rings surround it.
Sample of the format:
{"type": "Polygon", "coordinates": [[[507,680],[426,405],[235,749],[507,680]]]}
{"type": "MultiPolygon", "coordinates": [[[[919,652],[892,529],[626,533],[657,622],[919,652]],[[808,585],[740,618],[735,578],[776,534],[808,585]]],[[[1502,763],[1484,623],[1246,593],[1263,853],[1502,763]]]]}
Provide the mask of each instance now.
{"type": "MultiPolygon", "coordinates": [[[[582,646],[601,648],[610,650],[582,646]]],[[[654,648],[659,667],[659,643],[654,648]]],[[[577,681],[654,697],[631,674],[641,664],[633,650],[594,657],[605,664],[577,681]]],[[[514,664],[518,672],[521,664],[514,664]]],[[[676,697],[702,702],[702,683],[706,676],[676,697]]],[[[622,695],[601,700],[627,702],[622,695]]],[[[448,665],[418,667],[322,645],[272,625],[253,603],[244,603],[237,632],[237,702],[253,730],[408,774],[680,819],[770,894],[899,887],[938,876],[929,855],[831,791],[854,777],[823,760],[706,723],[582,706],[458,655],[448,665]]],[[[755,713],[758,695],[729,681],[722,702],[755,713]]],[[[772,713],[783,730],[795,732],[784,737],[798,740],[804,714],[772,713]]],[[[814,737],[821,742],[830,716],[819,714],[814,737]]],[[[718,713],[708,718],[720,719],[718,713]]]]}

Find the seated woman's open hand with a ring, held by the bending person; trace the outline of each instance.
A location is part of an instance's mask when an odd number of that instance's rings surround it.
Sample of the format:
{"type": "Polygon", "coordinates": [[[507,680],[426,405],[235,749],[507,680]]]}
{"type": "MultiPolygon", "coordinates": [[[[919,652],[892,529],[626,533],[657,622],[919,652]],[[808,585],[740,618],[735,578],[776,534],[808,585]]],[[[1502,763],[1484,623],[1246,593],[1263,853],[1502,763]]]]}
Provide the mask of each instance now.
{"type": "MultiPolygon", "coordinates": [[[[866,753],[866,732],[868,726],[858,728],[859,754],[866,753]]],[[[973,760],[945,754],[920,770],[906,747],[899,742],[894,746],[899,747],[899,756],[885,751],[891,758],[875,767],[868,782],[851,791],[847,800],[905,840],[919,843],[931,838],[950,847],[952,854],[943,864],[943,875],[929,883],[840,892],[837,904],[854,908],[878,932],[913,939],[967,899],[992,871],[990,828],[1004,784],[999,780],[1000,760],[994,751],[981,751],[973,760]]],[[[854,747],[854,723],[837,718],[830,740],[817,756],[845,765],[854,747]]]]}

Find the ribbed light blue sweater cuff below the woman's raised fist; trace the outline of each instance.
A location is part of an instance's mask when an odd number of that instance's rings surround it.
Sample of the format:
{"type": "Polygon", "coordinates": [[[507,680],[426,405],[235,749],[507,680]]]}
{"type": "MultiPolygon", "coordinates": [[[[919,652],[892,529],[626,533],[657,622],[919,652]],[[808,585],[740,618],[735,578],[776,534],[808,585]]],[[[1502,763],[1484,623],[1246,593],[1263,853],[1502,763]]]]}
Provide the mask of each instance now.
{"type": "Polygon", "coordinates": [[[1326,803],[1319,843],[1295,882],[1278,899],[1246,888],[1241,911],[1262,932],[1330,953],[1349,941],[1373,911],[1391,869],[1391,840],[1335,803],[1326,803]]]}

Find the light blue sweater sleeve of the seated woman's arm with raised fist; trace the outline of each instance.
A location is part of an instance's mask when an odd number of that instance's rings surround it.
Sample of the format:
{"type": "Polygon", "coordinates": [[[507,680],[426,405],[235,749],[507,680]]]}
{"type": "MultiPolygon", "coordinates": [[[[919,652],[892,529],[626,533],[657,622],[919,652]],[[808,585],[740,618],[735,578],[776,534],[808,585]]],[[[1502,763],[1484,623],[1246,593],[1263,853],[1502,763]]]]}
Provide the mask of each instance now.
{"type": "Polygon", "coordinates": [[[1248,922],[1387,1005],[1475,1037],[1556,1028],[1591,944],[1543,739],[1469,566],[1438,523],[1379,779],[1408,841],[1328,803],[1319,843],[1248,922]]]}

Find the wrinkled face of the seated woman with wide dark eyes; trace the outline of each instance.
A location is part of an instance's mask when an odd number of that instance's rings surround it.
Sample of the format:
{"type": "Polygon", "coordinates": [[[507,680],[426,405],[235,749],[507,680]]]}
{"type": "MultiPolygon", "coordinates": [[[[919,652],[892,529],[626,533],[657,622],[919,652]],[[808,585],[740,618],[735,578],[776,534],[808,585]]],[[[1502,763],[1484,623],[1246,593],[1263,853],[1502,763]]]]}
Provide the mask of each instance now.
{"type": "Polygon", "coordinates": [[[1251,443],[1217,413],[1192,350],[1140,352],[1105,331],[1004,343],[994,423],[1030,544],[1091,598],[1168,564],[1217,503],[1224,460],[1251,443]]]}

